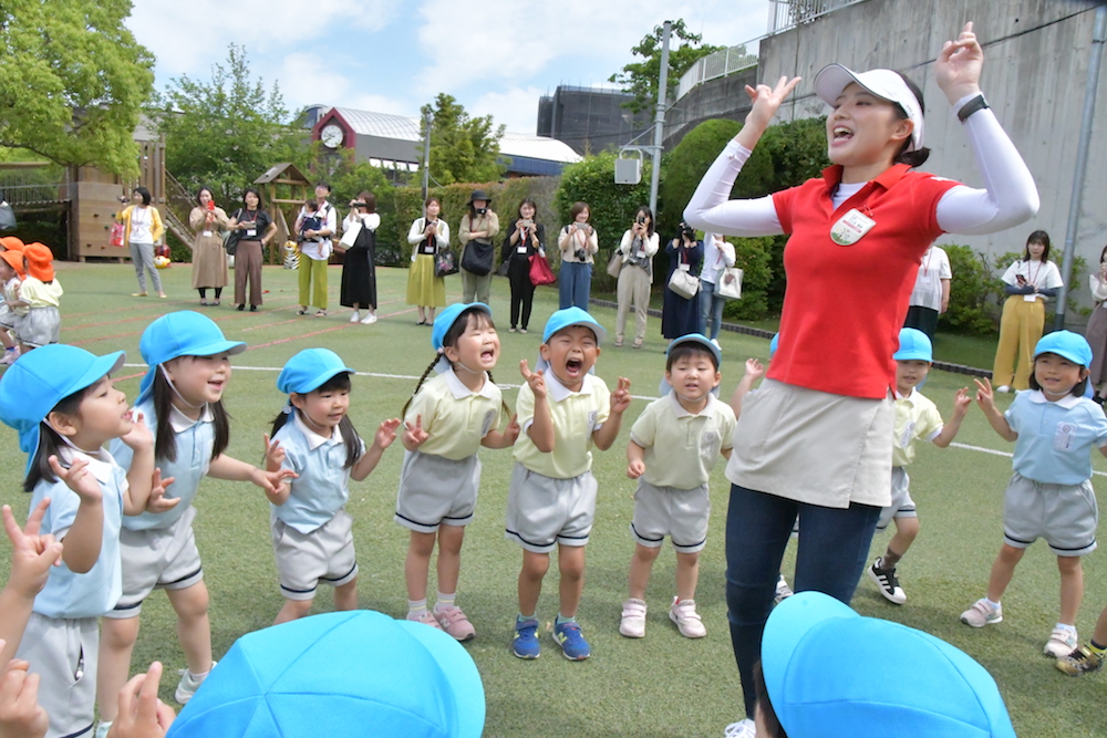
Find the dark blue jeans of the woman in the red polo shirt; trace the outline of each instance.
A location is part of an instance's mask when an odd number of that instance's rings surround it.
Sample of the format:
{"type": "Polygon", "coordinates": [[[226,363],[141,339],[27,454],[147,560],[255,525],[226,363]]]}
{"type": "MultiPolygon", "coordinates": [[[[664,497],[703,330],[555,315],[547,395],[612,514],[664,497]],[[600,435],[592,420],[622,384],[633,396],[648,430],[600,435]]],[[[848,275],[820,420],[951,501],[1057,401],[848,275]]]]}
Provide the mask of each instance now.
{"type": "Polygon", "coordinates": [[[731,645],[742,677],[746,717],[753,718],[754,664],[773,610],[780,561],[799,514],[796,592],[825,592],[848,603],[868,561],[880,508],[825,508],[731,485],[726,511],[726,609],[731,645]]]}

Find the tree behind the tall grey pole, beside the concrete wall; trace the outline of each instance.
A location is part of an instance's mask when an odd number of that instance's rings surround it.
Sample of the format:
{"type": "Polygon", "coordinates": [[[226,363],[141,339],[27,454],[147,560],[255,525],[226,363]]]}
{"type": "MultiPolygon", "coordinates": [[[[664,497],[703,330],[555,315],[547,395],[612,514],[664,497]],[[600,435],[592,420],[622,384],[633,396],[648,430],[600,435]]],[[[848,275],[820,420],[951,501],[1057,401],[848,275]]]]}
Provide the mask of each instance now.
{"type": "MultiPolygon", "coordinates": [[[[645,35],[637,46],[631,49],[631,53],[641,56],[642,61],[631,62],[608,77],[608,82],[614,82],[634,95],[634,100],[627,103],[634,113],[649,110],[658,102],[658,82],[661,77],[661,34],[663,28],[658,25],[653,33],[645,35]]],[[[669,84],[668,97],[676,95],[676,87],[681,77],[700,59],[716,51],[722,51],[726,46],[701,45],[703,35],[692,33],[685,28],[684,20],[673,21],[672,35],[670,37],[669,49],[669,84]],[[680,41],[675,49],[672,40],[680,41]]],[[[743,53],[745,51],[743,50],[743,53]]]]}

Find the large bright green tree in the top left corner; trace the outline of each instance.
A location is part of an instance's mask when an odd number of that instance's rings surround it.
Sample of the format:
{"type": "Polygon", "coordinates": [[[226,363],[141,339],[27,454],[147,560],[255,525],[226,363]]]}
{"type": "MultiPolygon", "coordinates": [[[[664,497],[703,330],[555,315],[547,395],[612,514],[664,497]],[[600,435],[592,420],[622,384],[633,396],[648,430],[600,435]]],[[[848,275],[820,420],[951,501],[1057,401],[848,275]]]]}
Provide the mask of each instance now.
{"type": "Polygon", "coordinates": [[[0,4],[0,146],[137,175],[154,56],[123,25],[130,14],[128,0],[0,4]]]}

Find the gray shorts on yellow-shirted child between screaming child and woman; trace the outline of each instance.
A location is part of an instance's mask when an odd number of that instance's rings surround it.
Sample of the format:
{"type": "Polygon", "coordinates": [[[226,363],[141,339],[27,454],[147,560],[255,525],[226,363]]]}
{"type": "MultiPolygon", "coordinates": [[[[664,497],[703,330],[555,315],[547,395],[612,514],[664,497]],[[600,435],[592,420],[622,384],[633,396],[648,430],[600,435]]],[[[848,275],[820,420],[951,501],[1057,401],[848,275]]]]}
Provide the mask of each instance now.
{"type": "Polygon", "coordinates": [[[634,491],[634,518],[630,532],[649,549],[659,548],[669,536],[681,553],[703,551],[707,542],[711,495],[707,485],[695,489],[655,487],[638,480],[634,491]]]}

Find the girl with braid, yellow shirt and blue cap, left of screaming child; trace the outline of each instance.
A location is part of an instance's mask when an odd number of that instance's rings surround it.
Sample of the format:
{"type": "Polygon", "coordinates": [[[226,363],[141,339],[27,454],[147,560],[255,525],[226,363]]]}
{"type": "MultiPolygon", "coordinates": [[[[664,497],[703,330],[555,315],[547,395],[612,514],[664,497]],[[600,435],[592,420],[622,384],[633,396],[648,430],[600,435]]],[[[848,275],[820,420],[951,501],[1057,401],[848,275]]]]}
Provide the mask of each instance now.
{"type": "Polygon", "coordinates": [[[442,628],[458,641],[476,635],[456,605],[465,527],[473,521],[480,459],[477,451],[507,448],[519,436],[513,417],[500,433],[505,407],[492,370],[499,358],[499,336],[488,305],[455,303],[434,319],[435,357],[420,378],[401,415],[405,430],[395,521],[411,530],[404,579],[407,620],[442,628]],[[427,381],[431,373],[436,373],[427,381]],[[426,606],[431,554],[438,543],[438,596],[426,606]]]}

